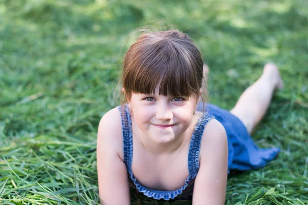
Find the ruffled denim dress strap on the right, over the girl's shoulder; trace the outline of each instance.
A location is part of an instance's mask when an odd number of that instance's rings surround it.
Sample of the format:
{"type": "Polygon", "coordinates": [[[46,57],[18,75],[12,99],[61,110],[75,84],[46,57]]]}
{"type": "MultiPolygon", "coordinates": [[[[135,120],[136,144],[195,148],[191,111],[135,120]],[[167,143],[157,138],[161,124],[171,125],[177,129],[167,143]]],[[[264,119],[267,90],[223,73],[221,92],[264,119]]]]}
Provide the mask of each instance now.
{"type": "Polygon", "coordinates": [[[201,139],[203,136],[203,131],[210,119],[213,119],[214,116],[206,115],[205,113],[198,120],[195,131],[192,133],[189,145],[188,152],[188,169],[189,175],[197,175],[200,165],[199,165],[199,154],[201,147],[201,139]]]}

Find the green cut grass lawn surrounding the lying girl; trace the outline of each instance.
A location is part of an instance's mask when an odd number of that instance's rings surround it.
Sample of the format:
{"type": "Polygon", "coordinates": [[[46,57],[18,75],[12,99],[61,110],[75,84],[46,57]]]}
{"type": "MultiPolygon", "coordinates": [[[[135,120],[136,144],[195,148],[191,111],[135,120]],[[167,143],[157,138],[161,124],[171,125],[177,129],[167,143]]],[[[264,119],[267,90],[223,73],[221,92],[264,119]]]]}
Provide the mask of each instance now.
{"type": "Polygon", "coordinates": [[[98,202],[99,120],[118,105],[128,33],[155,16],[199,46],[210,103],[232,108],[265,62],[279,66],[285,89],[253,137],[282,151],[263,169],[230,174],[226,204],[308,204],[307,1],[128,2],[0,1],[0,203],[98,202]]]}

